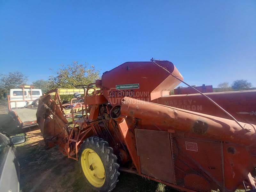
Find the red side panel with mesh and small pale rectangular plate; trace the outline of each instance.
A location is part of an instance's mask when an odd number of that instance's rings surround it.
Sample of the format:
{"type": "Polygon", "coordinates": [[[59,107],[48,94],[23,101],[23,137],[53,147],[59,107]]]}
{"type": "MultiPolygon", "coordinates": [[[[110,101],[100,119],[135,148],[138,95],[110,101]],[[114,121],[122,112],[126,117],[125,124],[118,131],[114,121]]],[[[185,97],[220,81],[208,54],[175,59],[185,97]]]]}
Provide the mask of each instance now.
{"type": "Polygon", "coordinates": [[[171,133],[171,141],[176,185],[202,192],[225,191],[222,142],[178,133],[171,133]]]}

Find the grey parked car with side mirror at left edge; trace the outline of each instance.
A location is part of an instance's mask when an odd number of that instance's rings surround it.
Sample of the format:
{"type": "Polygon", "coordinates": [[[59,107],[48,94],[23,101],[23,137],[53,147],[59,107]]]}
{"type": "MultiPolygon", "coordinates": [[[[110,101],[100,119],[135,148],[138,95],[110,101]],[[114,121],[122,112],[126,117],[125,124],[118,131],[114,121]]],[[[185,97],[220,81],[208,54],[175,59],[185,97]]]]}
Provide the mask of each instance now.
{"type": "Polygon", "coordinates": [[[20,192],[20,164],[14,155],[13,145],[24,143],[26,137],[10,138],[6,135],[0,133],[0,191],[20,192]]]}

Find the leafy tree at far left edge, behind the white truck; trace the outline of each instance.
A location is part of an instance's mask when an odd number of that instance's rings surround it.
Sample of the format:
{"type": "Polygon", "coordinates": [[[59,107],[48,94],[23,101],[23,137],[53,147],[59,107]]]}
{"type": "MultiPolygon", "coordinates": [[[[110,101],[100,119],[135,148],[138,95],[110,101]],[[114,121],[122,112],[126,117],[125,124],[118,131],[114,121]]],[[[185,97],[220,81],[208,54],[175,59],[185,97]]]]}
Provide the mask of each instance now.
{"type": "Polygon", "coordinates": [[[0,87],[1,93],[0,97],[3,97],[4,92],[9,93],[10,89],[19,87],[20,85],[26,84],[28,77],[19,71],[9,72],[7,75],[1,75],[0,87]]]}

